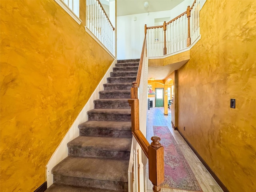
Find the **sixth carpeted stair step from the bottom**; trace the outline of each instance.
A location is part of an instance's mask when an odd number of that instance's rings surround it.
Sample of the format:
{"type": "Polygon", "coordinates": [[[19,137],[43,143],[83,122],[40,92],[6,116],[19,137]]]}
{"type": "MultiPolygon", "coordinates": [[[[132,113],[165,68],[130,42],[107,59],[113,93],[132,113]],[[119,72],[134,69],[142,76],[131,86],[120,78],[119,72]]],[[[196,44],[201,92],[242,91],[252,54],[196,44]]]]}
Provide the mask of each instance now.
{"type": "Polygon", "coordinates": [[[95,109],[129,109],[128,99],[97,99],[94,100],[95,109]]]}

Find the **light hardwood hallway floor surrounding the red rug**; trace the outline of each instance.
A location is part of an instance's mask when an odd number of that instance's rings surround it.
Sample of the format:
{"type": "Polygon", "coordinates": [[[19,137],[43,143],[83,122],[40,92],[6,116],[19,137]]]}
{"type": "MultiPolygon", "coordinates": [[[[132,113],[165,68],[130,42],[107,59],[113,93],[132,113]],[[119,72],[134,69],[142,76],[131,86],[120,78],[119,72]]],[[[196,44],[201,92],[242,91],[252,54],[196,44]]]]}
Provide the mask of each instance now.
{"type": "MultiPolygon", "coordinates": [[[[171,111],[168,109],[168,116],[164,116],[164,108],[150,108],[148,110],[148,129],[147,129],[147,140],[151,143],[150,138],[154,135],[153,126],[168,126],[170,132],[174,136],[180,150],[185,156],[190,168],[194,172],[196,179],[198,180],[203,192],[223,192],[220,186],[212,178],[208,170],[200,162],[194,152],[190,149],[188,144],[182,138],[177,130],[173,130],[171,126],[171,111]]],[[[148,172],[148,171],[147,171],[148,172]]],[[[148,180],[147,182],[147,192],[153,192],[152,183],[148,180]]],[[[169,189],[162,188],[162,192],[191,192],[187,190],[169,189]]]]}

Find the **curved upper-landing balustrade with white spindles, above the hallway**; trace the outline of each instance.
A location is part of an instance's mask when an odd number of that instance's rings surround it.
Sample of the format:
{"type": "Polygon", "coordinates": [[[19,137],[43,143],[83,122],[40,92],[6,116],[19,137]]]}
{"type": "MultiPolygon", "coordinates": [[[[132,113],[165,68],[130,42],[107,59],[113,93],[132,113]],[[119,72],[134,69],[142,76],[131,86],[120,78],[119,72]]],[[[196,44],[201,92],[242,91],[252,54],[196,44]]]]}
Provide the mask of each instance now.
{"type": "Polygon", "coordinates": [[[200,36],[200,0],[191,8],[161,26],[147,27],[149,57],[164,56],[189,47],[200,36]],[[192,42],[192,43],[191,43],[192,42]]]}

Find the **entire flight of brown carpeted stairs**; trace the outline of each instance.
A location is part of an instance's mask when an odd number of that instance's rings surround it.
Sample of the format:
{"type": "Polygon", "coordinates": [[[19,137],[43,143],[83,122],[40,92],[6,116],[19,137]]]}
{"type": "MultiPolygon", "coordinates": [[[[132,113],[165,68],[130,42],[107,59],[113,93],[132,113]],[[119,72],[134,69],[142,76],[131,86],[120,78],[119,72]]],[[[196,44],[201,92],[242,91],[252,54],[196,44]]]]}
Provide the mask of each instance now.
{"type": "Polygon", "coordinates": [[[52,169],[54,184],[46,192],[127,192],[132,143],[128,104],[139,60],[118,60],[108,83],[68,143],[68,157],[52,169]]]}

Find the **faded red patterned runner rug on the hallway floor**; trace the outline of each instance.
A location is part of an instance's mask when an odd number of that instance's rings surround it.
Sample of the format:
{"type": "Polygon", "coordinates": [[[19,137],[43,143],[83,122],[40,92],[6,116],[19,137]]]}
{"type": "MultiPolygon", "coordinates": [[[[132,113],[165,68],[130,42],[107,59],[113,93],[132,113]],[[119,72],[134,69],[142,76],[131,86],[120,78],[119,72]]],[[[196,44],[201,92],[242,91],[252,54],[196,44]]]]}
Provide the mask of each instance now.
{"type": "Polygon", "coordinates": [[[160,143],[164,146],[164,183],[161,186],[202,192],[194,173],[168,127],[153,126],[153,130],[154,135],[161,138],[160,143]]]}

